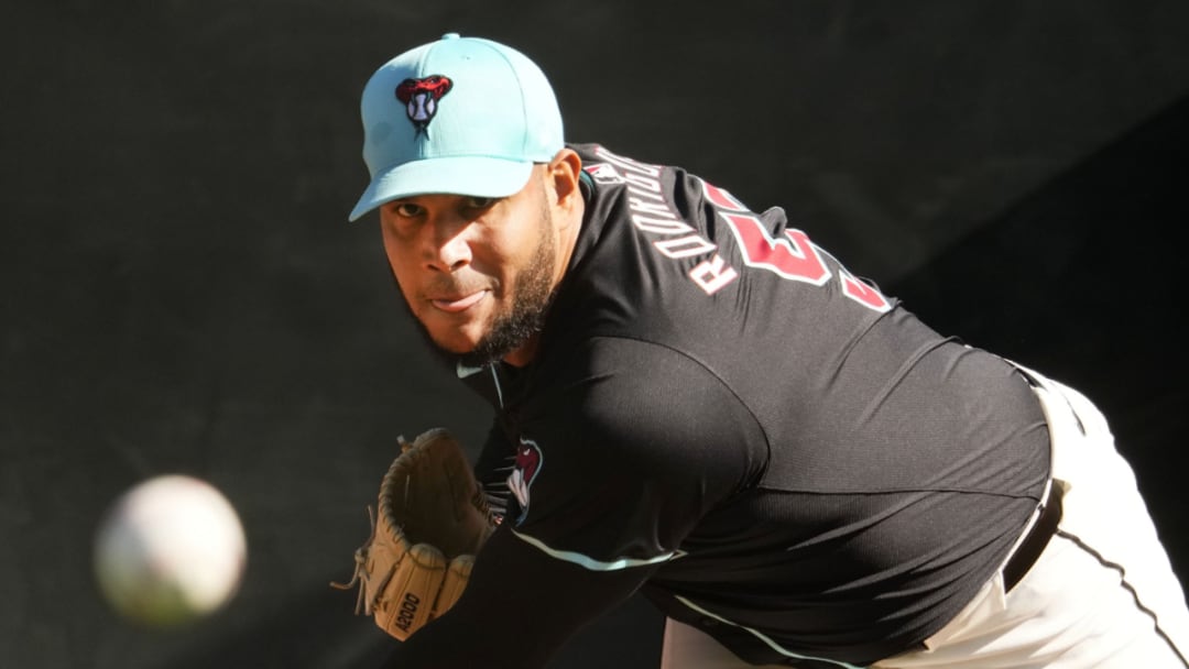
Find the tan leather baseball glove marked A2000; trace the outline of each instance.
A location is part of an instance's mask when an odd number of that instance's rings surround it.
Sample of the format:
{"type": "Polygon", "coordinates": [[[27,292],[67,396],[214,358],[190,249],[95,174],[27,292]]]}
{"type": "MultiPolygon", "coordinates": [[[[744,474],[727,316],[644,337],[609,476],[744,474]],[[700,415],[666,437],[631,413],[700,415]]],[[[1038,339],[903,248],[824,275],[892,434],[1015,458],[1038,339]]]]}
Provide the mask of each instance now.
{"type": "Polygon", "coordinates": [[[458,601],[495,520],[461,446],[442,428],[413,443],[380,481],[371,536],[356,550],[356,614],[404,640],[458,601]]]}

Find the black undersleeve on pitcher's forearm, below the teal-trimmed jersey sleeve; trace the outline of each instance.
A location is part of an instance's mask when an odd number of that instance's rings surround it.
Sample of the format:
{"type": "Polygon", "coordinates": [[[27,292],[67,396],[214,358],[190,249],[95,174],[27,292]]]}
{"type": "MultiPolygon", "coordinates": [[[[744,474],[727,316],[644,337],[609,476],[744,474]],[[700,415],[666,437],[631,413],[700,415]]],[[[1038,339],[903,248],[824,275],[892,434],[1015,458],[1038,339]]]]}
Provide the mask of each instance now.
{"type": "Polygon", "coordinates": [[[592,572],[556,560],[504,524],[445,616],[394,642],[384,669],[545,667],[579,629],[625,601],[656,567],[592,572]]]}

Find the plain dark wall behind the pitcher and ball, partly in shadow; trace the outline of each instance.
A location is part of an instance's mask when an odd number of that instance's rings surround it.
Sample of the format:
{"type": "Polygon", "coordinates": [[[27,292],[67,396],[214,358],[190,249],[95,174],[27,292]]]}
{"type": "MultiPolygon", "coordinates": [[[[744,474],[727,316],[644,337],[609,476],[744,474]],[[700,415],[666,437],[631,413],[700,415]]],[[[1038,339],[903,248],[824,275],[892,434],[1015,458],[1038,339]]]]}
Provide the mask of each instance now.
{"type": "MultiPolygon", "coordinates": [[[[396,435],[489,419],[410,336],[375,221],[346,222],[365,81],[448,31],[537,59],[568,139],[782,206],[936,328],[1083,390],[1189,573],[1189,2],[693,7],[6,2],[4,664],[373,664],[327,583],[396,435]],[[229,607],[155,632],[100,600],[90,545],[170,472],[228,496],[250,561],[229,607]]],[[[655,667],[660,625],[633,600],[553,667],[655,667]]]]}

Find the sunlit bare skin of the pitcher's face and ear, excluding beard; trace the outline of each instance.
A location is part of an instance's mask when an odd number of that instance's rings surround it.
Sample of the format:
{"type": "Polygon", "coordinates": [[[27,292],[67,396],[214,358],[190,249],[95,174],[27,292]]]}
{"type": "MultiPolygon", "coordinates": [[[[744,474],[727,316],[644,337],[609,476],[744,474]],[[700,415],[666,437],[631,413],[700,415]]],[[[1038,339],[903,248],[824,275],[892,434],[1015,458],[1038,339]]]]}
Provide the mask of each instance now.
{"type": "MultiPolygon", "coordinates": [[[[524,188],[508,197],[430,194],[380,207],[392,273],[438,347],[470,353],[493,323],[512,316],[518,286],[547,284],[539,286],[546,294],[556,288],[581,226],[580,169],[578,154],[562,149],[548,164],[535,165],[524,188]]],[[[528,302],[547,298],[535,294],[528,302]]],[[[539,339],[528,336],[503,360],[527,365],[539,339]]]]}

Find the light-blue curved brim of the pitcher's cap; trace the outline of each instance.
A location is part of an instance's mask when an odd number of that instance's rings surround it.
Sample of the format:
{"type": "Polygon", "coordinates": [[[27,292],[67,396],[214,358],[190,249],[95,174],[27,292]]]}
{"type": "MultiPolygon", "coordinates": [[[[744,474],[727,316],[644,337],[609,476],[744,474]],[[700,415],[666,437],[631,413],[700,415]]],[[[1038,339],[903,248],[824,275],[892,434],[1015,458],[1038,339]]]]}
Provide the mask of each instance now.
{"type": "Polygon", "coordinates": [[[528,183],[533,163],[507,158],[459,157],[414,160],[384,170],[367,185],[351,210],[356,221],[367,212],[401,197],[428,194],[507,197],[528,183]]]}

